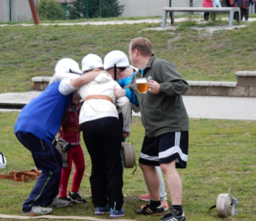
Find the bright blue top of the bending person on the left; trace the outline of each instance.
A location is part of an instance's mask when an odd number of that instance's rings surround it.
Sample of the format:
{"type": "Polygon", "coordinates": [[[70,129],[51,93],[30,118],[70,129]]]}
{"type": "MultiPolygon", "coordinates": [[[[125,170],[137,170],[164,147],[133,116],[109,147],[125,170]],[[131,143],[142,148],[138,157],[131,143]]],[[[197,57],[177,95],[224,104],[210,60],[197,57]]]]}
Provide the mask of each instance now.
{"type": "Polygon", "coordinates": [[[59,86],[60,81],[55,81],[24,106],[15,123],[15,133],[32,133],[45,142],[53,141],[73,99],[73,93],[62,95],[59,86]]]}

